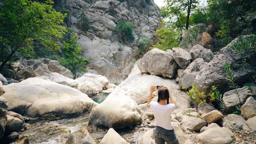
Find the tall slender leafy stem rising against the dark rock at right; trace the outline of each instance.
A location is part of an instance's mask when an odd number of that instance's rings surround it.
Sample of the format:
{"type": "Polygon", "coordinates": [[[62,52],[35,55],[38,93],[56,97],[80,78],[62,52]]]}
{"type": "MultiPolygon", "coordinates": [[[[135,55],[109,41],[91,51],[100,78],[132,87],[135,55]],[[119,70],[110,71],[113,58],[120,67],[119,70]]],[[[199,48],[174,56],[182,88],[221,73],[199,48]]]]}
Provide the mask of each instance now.
{"type": "Polygon", "coordinates": [[[238,85],[235,83],[236,77],[234,76],[234,72],[233,72],[232,68],[230,67],[229,63],[226,62],[224,67],[225,67],[225,71],[226,71],[226,75],[227,75],[226,80],[229,81],[228,84],[230,84],[230,87],[235,89],[236,95],[239,98],[239,103],[241,104],[240,95],[237,92],[238,85]]]}

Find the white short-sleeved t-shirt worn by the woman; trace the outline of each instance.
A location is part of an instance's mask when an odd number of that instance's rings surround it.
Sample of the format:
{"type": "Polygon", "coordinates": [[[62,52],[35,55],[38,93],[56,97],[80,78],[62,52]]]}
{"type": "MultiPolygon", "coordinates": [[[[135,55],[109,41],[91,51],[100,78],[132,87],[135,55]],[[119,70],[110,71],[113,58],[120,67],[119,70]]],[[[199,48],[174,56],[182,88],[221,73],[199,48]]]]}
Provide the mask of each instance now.
{"type": "Polygon", "coordinates": [[[175,109],[174,104],[160,105],[158,102],[151,101],[150,108],[154,113],[154,117],[157,122],[157,126],[162,127],[166,130],[172,130],[171,124],[171,112],[175,109]]]}

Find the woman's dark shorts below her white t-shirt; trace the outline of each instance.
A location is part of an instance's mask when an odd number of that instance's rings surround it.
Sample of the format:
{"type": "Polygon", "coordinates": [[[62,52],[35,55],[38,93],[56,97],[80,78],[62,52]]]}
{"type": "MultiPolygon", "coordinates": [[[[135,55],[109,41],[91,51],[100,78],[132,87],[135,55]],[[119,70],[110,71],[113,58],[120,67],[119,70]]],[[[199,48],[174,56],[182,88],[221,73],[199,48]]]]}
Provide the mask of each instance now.
{"type": "Polygon", "coordinates": [[[175,136],[174,130],[166,130],[162,127],[157,126],[154,132],[156,144],[179,144],[178,139],[175,136]]]}

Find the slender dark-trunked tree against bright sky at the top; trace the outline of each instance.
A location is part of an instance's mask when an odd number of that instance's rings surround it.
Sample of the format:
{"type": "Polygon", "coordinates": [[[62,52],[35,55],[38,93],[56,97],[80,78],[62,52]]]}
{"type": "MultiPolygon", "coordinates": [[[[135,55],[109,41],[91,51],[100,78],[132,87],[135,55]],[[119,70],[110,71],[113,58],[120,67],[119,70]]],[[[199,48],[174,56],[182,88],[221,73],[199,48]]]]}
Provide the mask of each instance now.
{"type": "Polygon", "coordinates": [[[189,27],[190,12],[195,10],[198,0],[165,0],[167,3],[165,14],[167,16],[176,16],[177,20],[186,12],[186,29],[189,27]]]}

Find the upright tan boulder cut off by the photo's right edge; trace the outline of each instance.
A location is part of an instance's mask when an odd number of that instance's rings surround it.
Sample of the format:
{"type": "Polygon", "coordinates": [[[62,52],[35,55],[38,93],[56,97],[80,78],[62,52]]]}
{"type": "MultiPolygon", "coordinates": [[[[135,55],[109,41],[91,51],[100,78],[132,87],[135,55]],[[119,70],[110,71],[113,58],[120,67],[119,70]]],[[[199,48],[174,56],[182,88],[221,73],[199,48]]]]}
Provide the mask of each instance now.
{"type": "Polygon", "coordinates": [[[240,109],[241,116],[246,120],[256,116],[256,100],[250,96],[240,109]]]}

